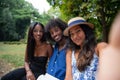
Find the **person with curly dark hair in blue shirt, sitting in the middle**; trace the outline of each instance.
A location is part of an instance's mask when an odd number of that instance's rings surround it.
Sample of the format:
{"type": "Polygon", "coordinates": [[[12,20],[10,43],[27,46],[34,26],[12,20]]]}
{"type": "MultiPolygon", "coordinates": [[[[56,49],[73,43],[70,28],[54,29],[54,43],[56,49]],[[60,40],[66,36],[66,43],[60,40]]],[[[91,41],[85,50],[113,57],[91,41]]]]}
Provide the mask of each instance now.
{"type": "Polygon", "coordinates": [[[53,18],[48,21],[46,25],[47,38],[54,44],[54,50],[48,62],[46,75],[40,76],[37,80],[64,80],[67,37],[63,35],[63,31],[66,27],[66,22],[59,18],[53,18]]]}

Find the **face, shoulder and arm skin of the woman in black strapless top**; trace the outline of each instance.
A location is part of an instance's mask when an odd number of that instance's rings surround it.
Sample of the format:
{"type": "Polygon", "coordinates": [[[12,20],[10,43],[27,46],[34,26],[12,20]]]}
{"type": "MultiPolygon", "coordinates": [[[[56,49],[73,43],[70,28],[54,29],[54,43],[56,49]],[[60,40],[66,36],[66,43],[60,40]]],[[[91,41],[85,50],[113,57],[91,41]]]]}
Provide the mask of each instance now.
{"type": "MultiPolygon", "coordinates": [[[[40,56],[48,56],[49,58],[52,55],[52,46],[46,42],[41,42],[41,38],[43,36],[43,29],[40,25],[36,25],[33,30],[33,37],[35,39],[35,57],[40,56]]],[[[25,70],[26,70],[26,78],[27,80],[36,80],[34,74],[30,70],[28,59],[27,59],[27,51],[25,55],[25,70]]]]}

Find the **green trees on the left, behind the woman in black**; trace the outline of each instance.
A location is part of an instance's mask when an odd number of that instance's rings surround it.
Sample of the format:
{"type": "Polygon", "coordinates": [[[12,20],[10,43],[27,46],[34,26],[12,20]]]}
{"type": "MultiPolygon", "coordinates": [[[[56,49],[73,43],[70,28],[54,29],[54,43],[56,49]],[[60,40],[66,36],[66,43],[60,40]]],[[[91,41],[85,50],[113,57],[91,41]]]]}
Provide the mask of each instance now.
{"type": "Polygon", "coordinates": [[[25,0],[0,0],[0,41],[23,40],[31,21],[46,24],[49,18],[25,0]]]}

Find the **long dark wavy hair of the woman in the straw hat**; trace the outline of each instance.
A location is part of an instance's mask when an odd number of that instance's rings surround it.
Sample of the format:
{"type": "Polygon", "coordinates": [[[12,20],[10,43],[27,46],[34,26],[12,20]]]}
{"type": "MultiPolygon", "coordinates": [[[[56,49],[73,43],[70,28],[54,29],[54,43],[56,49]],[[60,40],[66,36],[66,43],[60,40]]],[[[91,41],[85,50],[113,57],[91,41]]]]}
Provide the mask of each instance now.
{"type": "MultiPolygon", "coordinates": [[[[95,53],[96,39],[94,30],[88,25],[82,24],[79,25],[85,33],[85,41],[82,47],[73,43],[69,38],[69,48],[73,50],[81,49],[81,52],[78,55],[77,59],[77,68],[79,71],[84,71],[88,65],[90,65],[93,55],[95,53]]],[[[70,34],[69,34],[70,36],[70,34]]]]}

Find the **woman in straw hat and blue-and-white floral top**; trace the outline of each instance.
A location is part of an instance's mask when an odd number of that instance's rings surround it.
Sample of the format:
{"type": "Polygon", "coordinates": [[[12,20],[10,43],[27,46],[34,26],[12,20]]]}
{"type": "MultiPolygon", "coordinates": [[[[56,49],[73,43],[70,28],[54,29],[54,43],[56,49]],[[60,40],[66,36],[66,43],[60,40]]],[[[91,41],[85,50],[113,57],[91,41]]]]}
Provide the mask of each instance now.
{"type": "Polygon", "coordinates": [[[96,44],[93,28],[93,24],[82,17],[68,21],[64,31],[64,35],[70,39],[65,80],[95,80],[98,53],[106,47],[106,43],[96,44]]]}

